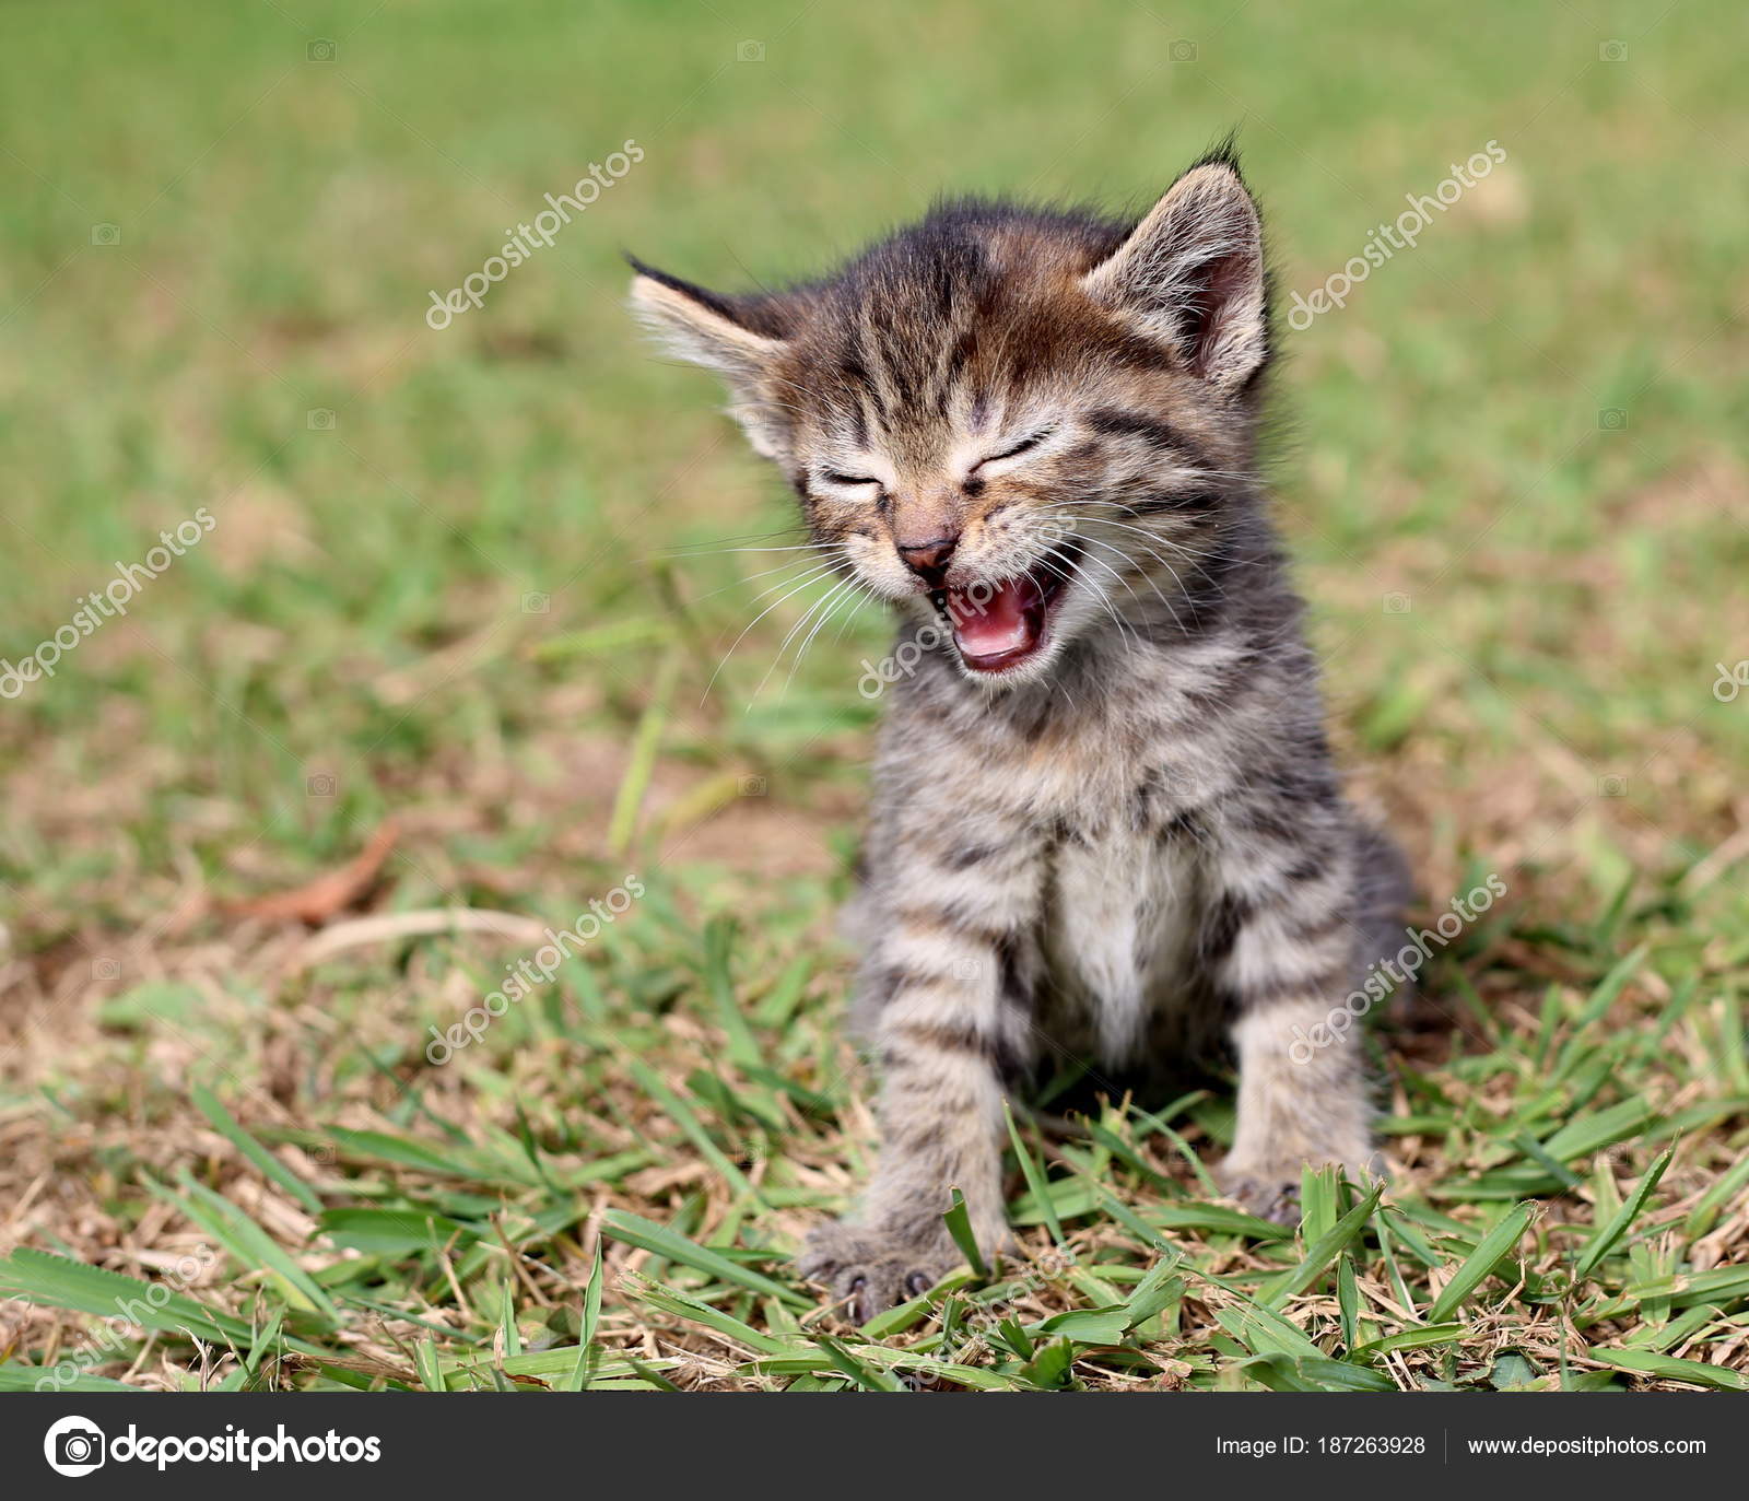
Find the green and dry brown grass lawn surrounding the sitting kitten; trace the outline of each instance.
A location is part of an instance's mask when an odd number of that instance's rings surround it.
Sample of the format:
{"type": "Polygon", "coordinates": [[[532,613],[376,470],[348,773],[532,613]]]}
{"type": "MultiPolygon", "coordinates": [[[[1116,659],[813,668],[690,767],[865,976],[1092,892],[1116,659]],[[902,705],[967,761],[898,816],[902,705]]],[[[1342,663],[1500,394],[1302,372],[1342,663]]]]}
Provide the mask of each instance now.
{"type": "Polygon", "coordinates": [[[1156,10],[12,7],[0,658],[215,527],[0,700],[0,1389],[1744,1387],[1749,23],[1156,10]],[[745,283],[943,189],[1144,205],[1235,124],[1289,294],[1506,150],[1289,336],[1277,469],[1417,920],[1508,894],[1369,1036],[1382,1197],[1210,1202],[1224,1079],[1021,1109],[1023,1254],[850,1330],[787,1256],[871,1151],[831,915],[885,626],[794,667],[803,595],[717,674],[787,555],[715,549],[787,513],[619,250],[745,283]],[[390,817],[339,922],[504,936],[248,915],[390,817]]]}

